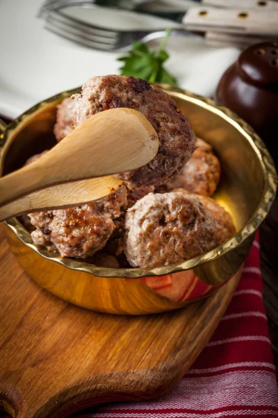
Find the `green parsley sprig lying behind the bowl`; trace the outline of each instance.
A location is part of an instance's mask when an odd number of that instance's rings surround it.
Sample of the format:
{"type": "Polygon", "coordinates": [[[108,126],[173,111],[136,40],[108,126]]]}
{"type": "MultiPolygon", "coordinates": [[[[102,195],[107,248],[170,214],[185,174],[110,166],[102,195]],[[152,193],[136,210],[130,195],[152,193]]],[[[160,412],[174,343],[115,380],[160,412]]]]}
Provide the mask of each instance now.
{"type": "Polygon", "coordinates": [[[133,49],[117,59],[117,61],[124,63],[120,68],[120,74],[132,75],[150,83],[166,83],[177,86],[177,79],[163,68],[163,64],[169,59],[165,47],[170,32],[170,29],[166,30],[165,38],[156,51],[151,51],[145,43],[133,42],[133,49]]]}

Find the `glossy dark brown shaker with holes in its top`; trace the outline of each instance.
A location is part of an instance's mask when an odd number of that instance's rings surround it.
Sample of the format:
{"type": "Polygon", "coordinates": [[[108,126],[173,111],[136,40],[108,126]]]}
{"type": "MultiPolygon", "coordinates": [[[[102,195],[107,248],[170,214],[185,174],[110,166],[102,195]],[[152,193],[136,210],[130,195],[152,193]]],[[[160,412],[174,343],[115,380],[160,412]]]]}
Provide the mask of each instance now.
{"type": "Polygon", "coordinates": [[[220,79],[216,102],[256,130],[278,167],[278,41],[245,49],[220,79]]]}

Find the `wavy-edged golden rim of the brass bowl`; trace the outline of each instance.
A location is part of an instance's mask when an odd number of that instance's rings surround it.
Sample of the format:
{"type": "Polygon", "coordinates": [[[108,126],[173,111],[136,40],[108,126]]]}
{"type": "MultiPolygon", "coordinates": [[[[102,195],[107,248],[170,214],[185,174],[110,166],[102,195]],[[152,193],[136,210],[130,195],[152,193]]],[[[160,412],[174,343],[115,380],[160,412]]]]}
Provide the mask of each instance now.
{"type": "MultiPolygon", "coordinates": [[[[190,270],[198,265],[207,263],[208,261],[213,261],[215,258],[218,258],[228,251],[238,247],[238,245],[240,245],[246,238],[250,237],[256,229],[258,229],[259,225],[263,222],[263,219],[265,219],[268,211],[270,210],[270,206],[275,198],[277,189],[277,173],[275,171],[275,165],[261,138],[256,134],[256,132],[254,132],[250,125],[243,121],[243,119],[239,118],[239,116],[226,107],[218,106],[215,102],[213,102],[213,100],[191,93],[190,91],[186,91],[182,88],[174,88],[167,84],[158,84],[158,86],[163,88],[167,93],[174,93],[177,98],[182,99],[186,96],[186,100],[200,105],[208,111],[213,111],[213,113],[218,114],[228,123],[234,125],[234,127],[236,127],[236,129],[250,142],[252,148],[256,152],[256,155],[259,157],[265,181],[261,201],[250,221],[243,227],[243,229],[238,231],[233,238],[208,253],[202,254],[202,256],[197,256],[188,261],[183,261],[177,265],[167,265],[158,268],[104,268],[73,258],[62,258],[61,256],[57,256],[55,253],[51,253],[51,251],[36,247],[33,244],[30,233],[24,229],[24,226],[22,226],[16,218],[8,219],[6,224],[14,231],[17,237],[24,242],[25,245],[33,249],[33,251],[36,251],[42,257],[59,263],[60,265],[64,265],[66,268],[70,268],[72,270],[87,272],[99,277],[126,277],[136,279],[138,277],[163,276],[165,274],[190,270]]],[[[0,135],[0,149],[3,147],[2,149],[4,150],[7,147],[9,142],[7,141],[8,133],[15,130],[17,125],[19,125],[19,123],[21,123],[26,116],[39,111],[42,107],[51,102],[63,100],[64,98],[72,95],[72,93],[76,93],[76,91],[80,91],[80,89],[74,88],[70,91],[58,93],[57,95],[51,96],[51,98],[42,100],[42,102],[39,102],[35,106],[31,107],[31,109],[25,111],[24,114],[10,123],[10,125],[6,127],[6,131],[0,135]]],[[[3,155],[3,153],[0,153],[0,156],[1,155],[3,155]]]]}

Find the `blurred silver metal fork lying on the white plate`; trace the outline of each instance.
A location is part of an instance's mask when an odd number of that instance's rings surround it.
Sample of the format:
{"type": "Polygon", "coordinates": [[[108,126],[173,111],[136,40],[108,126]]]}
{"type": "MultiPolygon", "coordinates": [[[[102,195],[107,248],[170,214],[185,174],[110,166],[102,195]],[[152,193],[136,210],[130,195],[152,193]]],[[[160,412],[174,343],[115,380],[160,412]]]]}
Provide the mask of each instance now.
{"type": "MultiPolygon", "coordinates": [[[[149,42],[150,40],[163,38],[165,29],[156,31],[120,31],[105,29],[104,27],[81,22],[64,15],[59,10],[52,11],[45,17],[45,29],[72,40],[79,45],[98,49],[100,51],[116,51],[129,49],[133,41],[149,42]]],[[[172,36],[188,36],[201,38],[202,36],[186,31],[185,29],[172,29],[172,36]]]]}

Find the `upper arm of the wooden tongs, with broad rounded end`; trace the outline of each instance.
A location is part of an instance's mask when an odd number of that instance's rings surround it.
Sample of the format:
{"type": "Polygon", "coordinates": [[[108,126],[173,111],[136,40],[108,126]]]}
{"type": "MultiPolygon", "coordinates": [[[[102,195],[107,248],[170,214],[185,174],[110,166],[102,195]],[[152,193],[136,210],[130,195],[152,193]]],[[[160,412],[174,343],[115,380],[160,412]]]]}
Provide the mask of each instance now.
{"type": "MultiPolygon", "coordinates": [[[[111,109],[91,116],[39,160],[0,179],[0,207],[36,190],[137,169],[154,158],[158,138],[145,116],[111,109]]],[[[46,196],[45,206],[51,203],[46,196]]]]}

